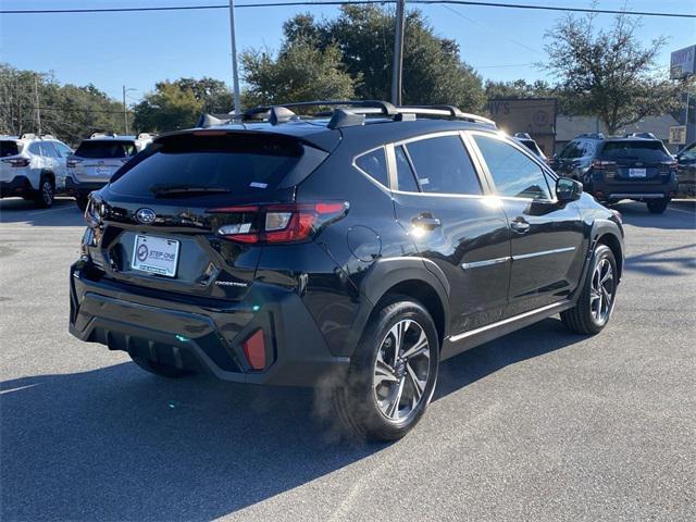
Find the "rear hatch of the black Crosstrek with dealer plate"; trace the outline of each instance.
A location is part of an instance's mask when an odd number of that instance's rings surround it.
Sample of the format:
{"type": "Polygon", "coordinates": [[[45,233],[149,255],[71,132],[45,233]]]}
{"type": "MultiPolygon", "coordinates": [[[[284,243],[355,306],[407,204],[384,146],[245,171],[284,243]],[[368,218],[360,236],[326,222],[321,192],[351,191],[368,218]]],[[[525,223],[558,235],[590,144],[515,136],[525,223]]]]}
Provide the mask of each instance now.
{"type": "Polygon", "coordinates": [[[261,254],[250,234],[266,219],[260,209],[291,204],[295,185],[326,156],[271,133],[161,137],[92,197],[88,216],[101,222],[92,259],[134,285],[241,298],[261,254]]]}

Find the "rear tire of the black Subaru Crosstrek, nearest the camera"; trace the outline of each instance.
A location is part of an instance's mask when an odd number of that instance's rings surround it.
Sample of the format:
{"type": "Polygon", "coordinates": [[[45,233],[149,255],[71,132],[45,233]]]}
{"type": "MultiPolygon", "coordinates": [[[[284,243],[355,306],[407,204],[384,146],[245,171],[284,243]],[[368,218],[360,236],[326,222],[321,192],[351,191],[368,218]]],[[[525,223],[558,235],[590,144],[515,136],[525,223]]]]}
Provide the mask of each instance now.
{"type": "Polygon", "coordinates": [[[438,365],[437,328],[427,310],[408,297],[399,296],[391,299],[372,314],[351,359],[347,384],[334,389],[333,402],[337,417],[350,431],[370,440],[395,440],[403,437],[418,424],[427,409],[437,383],[438,365]],[[393,373],[389,380],[380,378],[380,383],[383,384],[375,385],[377,355],[381,355],[382,361],[386,360],[383,357],[384,350],[388,349],[388,339],[395,338],[393,328],[399,326],[405,326],[403,335],[400,336],[402,343],[394,343],[395,349],[390,352],[394,360],[398,361],[390,369],[393,373]],[[401,359],[396,355],[398,346],[405,349],[401,352],[405,356],[409,348],[421,346],[421,334],[427,340],[426,349],[430,357],[425,357],[424,353],[417,355],[423,349],[415,350],[411,358],[401,359]],[[425,378],[421,380],[420,376],[425,378]],[[421,383],[420,387],[417,387],[417,382],[421,383]],[[382,401],[383,405],[386,403],[386,412],[377,403],[377,396],[385,391],[389,391],[382,401]],[[389,400],[389,397],[393,399],[389,400]],[[407,411],[400,417],[403,401],[407,402],[403,406],[403,410],[407,411]],[[396,410],[393,415],[396,418],[389,418],[388,410],[393,409],[394,403],[396,410]]]}

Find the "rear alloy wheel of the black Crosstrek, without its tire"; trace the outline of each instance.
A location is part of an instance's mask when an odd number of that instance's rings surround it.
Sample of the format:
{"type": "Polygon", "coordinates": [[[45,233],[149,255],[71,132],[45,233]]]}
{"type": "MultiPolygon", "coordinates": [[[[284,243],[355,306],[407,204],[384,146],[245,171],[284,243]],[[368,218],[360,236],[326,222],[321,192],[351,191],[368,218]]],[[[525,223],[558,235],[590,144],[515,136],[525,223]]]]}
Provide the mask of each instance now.
{"type": "Polygon", "coordinates": [[[382,414],[393,421],[409,415],[424,400],[430,375],[431,347],[423,327],[403,319],[380,345],[373,391],[382,414]]]}

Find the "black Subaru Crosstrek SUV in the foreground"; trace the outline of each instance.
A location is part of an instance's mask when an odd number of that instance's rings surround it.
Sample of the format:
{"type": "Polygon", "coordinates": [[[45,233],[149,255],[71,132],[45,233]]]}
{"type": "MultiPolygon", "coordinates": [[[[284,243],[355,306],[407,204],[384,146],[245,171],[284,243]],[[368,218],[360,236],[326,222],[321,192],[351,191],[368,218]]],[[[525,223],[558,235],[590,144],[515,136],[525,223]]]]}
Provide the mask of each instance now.
{"type": "Polygon", "coordinates": [[[331,103],[162,135],[117,171],[86,210],[71,333],[167,377],[328,387],[394,439],[442,360],[557,313],[605,327],[617,212],[488,120],[331,103]]]}

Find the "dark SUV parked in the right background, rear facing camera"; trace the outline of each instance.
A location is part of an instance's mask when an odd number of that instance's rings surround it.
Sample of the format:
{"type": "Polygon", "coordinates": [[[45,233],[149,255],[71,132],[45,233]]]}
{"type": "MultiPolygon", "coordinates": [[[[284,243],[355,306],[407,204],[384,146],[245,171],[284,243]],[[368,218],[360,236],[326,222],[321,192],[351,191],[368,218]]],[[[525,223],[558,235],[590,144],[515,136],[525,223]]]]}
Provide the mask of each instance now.
{"type": "Polygon", "coordinates": [[[600,201],[644,201],[656,214],[664,212],[679,188],[676,161],[650,133],[608,138],[582,134],[554,157],[551,167],[581,181],[600,201]]]}

